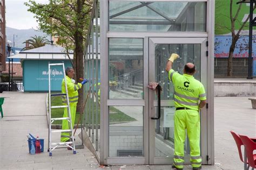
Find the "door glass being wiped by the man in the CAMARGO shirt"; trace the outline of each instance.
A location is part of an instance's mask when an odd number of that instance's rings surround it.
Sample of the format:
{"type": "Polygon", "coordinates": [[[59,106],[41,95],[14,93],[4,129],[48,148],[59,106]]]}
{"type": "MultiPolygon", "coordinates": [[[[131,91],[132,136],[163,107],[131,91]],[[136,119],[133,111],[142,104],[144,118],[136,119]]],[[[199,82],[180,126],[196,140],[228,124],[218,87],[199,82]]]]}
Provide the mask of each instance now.
{"type": "MultiPolygon", "coordinates": [[[[161,92],[161,100],[170,100],[168,105],[172,105],[174,88],[173,84],[168,79],[168,74],[165,71],[166,61],[170,54],[177,53],[180,58],[173,64],[173,69],[183,74],[184,65],[187,62],[192,62],[196,65],[197,72],[194,77],[200,81],[200,59],[201,59],[201,44],[156,44],[155,45],[155,81],[160,83],[163,88],[161,92]]],[[[155,100],[157,100],[157,96],[155,100]]],[[[158,114],[156,107],[156,115],[158,114]]],[[[174,107],[165,107],[162,104],[160,114],[161,117],[155,122],[156,138],[155,138],[155,156],[167,157],[173,156],[174,153],[174,133],[173,133],[173,115],[174,107]]],[[[189,141],[186,138],[184,145],[185,155],[190,155],[189,141]]]]}

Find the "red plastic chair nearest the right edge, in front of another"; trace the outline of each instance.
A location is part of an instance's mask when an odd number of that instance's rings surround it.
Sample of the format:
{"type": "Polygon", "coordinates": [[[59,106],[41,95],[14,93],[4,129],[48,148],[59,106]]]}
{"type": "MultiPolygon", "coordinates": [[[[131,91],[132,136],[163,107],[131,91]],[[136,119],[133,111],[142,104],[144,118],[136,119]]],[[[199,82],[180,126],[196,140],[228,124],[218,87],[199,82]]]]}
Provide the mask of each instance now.
{"type": "Polygon", "coordinates": [[[256,150],[256,143],[247,136],[243,136],[240,134],[239,136],[242,140],[242,143],[245,145],[248,164],[252,168],[256,168],[256,154],[253,154],[253,151],[256,150]]]}

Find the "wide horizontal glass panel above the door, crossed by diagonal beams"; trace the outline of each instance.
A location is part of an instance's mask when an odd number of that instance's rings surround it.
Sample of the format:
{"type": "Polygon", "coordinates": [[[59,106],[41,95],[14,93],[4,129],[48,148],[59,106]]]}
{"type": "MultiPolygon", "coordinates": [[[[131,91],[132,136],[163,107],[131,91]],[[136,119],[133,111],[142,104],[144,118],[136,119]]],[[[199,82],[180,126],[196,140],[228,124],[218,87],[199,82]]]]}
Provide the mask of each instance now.
{"type": "Polygon", "coordinates": [[[110,31],[206,31],[206,2],[109,2],[110,31]]]}

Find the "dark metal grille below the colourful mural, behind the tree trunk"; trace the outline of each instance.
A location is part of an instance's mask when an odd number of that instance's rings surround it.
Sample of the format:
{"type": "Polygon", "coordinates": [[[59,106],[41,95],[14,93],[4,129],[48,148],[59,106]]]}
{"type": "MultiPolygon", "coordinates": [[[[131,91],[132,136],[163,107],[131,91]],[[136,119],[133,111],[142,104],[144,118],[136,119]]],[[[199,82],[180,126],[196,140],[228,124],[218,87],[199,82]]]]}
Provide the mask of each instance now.
{"type": "MultiPolygon", "coordinates": [[[[248,58],[233,58],[233,76],[247,77],[248,58]]],[[[214,58],[214,77],[227,76],[227,58],[214,58]]]]}

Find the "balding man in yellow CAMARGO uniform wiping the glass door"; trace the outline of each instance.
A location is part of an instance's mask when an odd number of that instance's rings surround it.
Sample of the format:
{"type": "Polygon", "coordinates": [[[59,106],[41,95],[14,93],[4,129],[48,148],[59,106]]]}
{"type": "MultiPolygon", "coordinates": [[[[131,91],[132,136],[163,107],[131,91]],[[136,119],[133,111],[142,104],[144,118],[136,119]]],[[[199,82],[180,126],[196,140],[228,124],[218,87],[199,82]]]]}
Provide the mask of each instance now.
{"type": "Polygon", "coordinates": [[[181,75],[172,69],[178,54],[171,54],[167,61],[166,72],[174,86],[174,159],[173,168],[183,169],[184,142],[187,136],[190,141],[190,156],[193,169],[201,169],[200,157],[200,116],[199,110],[206,104],[206,94],[201,82],[194,79],[196,66],[186,63],[184,74],[181,75]],[[199,103],[200,101],[200,103],[199,103]]]}

